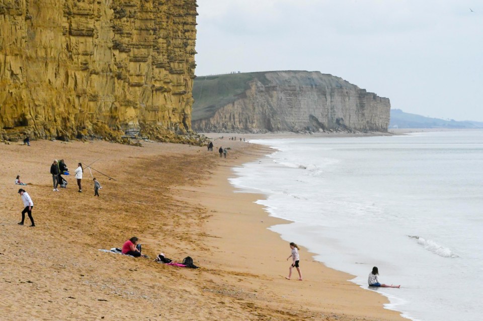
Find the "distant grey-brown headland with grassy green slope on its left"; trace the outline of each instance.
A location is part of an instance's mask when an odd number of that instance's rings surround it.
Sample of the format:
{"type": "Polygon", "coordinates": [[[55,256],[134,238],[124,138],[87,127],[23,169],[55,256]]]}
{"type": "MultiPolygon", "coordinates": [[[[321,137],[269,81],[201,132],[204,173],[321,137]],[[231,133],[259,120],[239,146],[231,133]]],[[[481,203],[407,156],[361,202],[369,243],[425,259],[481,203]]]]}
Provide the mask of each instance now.
{"type": "Polygon", "coordinates": [[[199,77],[193,129],[208,131],[378,131],[388,98],[320,72],[273,71],[199,77]]]}

